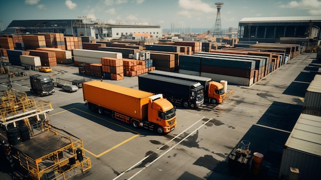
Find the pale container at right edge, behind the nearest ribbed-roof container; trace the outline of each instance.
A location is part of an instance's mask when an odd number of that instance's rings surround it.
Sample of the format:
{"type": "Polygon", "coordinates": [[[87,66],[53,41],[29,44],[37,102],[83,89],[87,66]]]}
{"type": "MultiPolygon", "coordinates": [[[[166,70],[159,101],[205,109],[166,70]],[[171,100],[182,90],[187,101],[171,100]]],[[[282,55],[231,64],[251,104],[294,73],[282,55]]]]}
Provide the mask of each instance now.
{"type": "Polygon", "coordinates": [[[321,110],[321,75],[316,74],[310,83],[304,97],[303,108],[321,110]]]}

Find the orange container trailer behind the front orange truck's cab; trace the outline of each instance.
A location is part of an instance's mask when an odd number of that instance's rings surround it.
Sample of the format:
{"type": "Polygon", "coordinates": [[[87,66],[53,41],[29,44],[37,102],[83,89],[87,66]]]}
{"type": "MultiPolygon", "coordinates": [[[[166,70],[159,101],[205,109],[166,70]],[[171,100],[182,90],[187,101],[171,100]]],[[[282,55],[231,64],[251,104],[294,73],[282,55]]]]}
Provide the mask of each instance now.
{"type": "Polygon", "coordinates": [[[147,118],[153,93],[100,81],[83,83],[84,100],[137,119],[147,118]]]}

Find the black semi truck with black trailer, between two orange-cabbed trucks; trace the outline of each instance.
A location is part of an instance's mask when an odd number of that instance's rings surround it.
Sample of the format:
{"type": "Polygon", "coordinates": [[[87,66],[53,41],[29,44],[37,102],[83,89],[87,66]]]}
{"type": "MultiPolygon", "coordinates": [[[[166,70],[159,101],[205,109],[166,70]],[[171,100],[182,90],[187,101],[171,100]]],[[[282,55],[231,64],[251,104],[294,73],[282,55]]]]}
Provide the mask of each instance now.
{"type": "Polygon", "coordinates": [[[173,104],[197,108],[204,103],[204,87],[197,82],[152,74],[138,76],[139,90],[163,94],[173,104]]]}

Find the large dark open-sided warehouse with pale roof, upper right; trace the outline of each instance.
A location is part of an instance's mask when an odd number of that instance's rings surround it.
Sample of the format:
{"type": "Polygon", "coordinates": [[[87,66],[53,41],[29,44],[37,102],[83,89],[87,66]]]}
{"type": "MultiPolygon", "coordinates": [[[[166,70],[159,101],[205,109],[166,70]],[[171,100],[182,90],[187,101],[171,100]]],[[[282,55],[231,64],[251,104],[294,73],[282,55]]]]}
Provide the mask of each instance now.
{"type": "Polygon", "coordinates": [[[239,41],[276,43],[280,38],[321,39],[321,16],[245,17],[238,23],[239,41]]]}

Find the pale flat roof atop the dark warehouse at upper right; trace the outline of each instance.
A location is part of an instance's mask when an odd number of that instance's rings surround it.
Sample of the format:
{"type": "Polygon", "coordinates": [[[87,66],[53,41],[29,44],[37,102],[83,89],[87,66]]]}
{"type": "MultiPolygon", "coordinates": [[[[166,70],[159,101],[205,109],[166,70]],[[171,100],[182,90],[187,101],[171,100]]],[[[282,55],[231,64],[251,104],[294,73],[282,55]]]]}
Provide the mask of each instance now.
{"type": "Polygon", "coordinates": [[[321,22],[321,16],[288,16],[288,17],[244,17],[239,23],[259,22],[321,22]]]}

